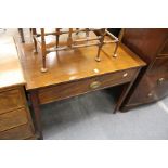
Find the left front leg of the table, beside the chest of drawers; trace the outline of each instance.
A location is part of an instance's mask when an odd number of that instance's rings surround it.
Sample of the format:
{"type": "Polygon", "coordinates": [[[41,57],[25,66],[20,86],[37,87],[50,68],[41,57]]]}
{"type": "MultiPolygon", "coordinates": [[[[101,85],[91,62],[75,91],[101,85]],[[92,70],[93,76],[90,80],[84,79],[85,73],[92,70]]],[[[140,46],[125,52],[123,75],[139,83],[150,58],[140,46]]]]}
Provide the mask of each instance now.
{"type": "Polygon", "coordinates": [[[39,99],[38,99],[38,93],[37,91],[30,91],[30,101],[35,114],[35,128],[36,131],[39,133],[39,139],[42,140],[42,128],[41,128],[41,112],[40,112],[40,104],[39,104],[39,99]]]}

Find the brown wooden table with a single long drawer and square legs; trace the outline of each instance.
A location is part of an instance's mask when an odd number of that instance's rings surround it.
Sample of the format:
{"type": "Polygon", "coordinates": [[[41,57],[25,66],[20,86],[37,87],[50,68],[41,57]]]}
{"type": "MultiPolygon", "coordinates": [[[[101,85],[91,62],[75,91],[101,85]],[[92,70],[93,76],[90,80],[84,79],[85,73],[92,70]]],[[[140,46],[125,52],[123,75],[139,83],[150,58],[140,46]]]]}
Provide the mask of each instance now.
{"type": "MultiPolygon", "coordinates": [[[[93,34],[93,33],[92,33],[93,34]]],[[[94,37],[94,34],[93,34],[94,37]]],[[[108,40],[108,37],[105,37],[108,40]]],[[[48,73],[40,73],[41,56],[34,53],[33,43],[17,43],[30,98],[36,130],[42,139],[40,104],[68,99],[87,92],[124,85],[115,112],[120,107],[141,67],[145,63],[127,47],[119,44],[118,57],[112,57],[115,43],[103,47],[102,61],[95,62],[96,47],[53,52],[47,60],[48,73]]]]}

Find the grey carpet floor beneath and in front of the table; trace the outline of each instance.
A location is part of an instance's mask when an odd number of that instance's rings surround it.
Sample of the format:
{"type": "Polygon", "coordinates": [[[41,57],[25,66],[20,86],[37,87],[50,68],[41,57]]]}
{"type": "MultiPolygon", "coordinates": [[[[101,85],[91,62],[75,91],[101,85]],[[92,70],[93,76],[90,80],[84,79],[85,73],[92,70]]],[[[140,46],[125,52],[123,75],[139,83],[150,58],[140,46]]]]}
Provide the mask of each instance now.
{"type": "Polygon", "coordinates": [[[96,91],[42,105],[43,135],[53,140],[168,139],[167,105],[168,98],[113,114],[113,96],[96,91]]]}

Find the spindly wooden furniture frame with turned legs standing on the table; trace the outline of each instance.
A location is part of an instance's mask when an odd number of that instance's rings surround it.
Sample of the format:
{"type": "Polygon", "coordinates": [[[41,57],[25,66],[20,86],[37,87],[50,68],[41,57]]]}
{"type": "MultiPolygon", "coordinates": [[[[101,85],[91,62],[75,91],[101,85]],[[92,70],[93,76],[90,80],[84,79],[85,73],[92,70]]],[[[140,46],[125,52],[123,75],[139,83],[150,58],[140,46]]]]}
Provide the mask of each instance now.
{"type": "Polygon", "coordinates": [[[100,62],[100,52],[105,43],[116,43],[114,54],[113,56],[116,57],[117,54],[117,48],[118,48],[118,38],[116,38],[113,34],[108,33],[105,28],[68,28],[68,29],[63,29],[63,28],[54,28],[52,30],[46,31],[44,28],[40,28],[40,31],[37,33],[36,28],[31,28],[33,33],[33,39],[34,39],[34,44],[35,44],[35,52],[38,52],[38,47],[41,50],[42,54],[42,67],[41,72],[44,73],[48,70],[47,65],[46,65],[46,57],[50,52],[57,52],[61,50],[69,50],[69,49],[77,49],[77,48],[83,48],[83,47],[92,47],[92,46],[98,46],[98,53],[95,56],[95,61],[100,62]],[[96,30],[99,33],[99,36],[96,37],[90,37],[89,34],[90,31],[96,30]],[[74,39],[73,36],[78,36],[79,33],[85,33],[86,36],[79,39],[74,39]],[[46,38],[47,36],[55,36],[55,42],[52,44],[47,44],[46,38]],[[67,35],[66,43],[64,46],[60,46],[60,36],[61,35],[67,35]],[[105,36],[108,35],[113,40],[111,41],[105,41],[105,36]],[[94,42],[91,42],[94,41],[94,42]]]}

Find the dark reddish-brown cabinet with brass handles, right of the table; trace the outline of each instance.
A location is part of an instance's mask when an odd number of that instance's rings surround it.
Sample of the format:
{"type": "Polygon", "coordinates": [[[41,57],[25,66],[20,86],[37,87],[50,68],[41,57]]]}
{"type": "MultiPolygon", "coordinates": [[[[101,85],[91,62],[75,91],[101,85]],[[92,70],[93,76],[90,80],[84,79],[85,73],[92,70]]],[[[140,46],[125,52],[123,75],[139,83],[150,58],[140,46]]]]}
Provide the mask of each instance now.
{"type": "Polygon", "coordinates": [[[125,29],[122,43],[147,63],[121,109],[158,101],[168,95],[168,28],[125,29]]]}

